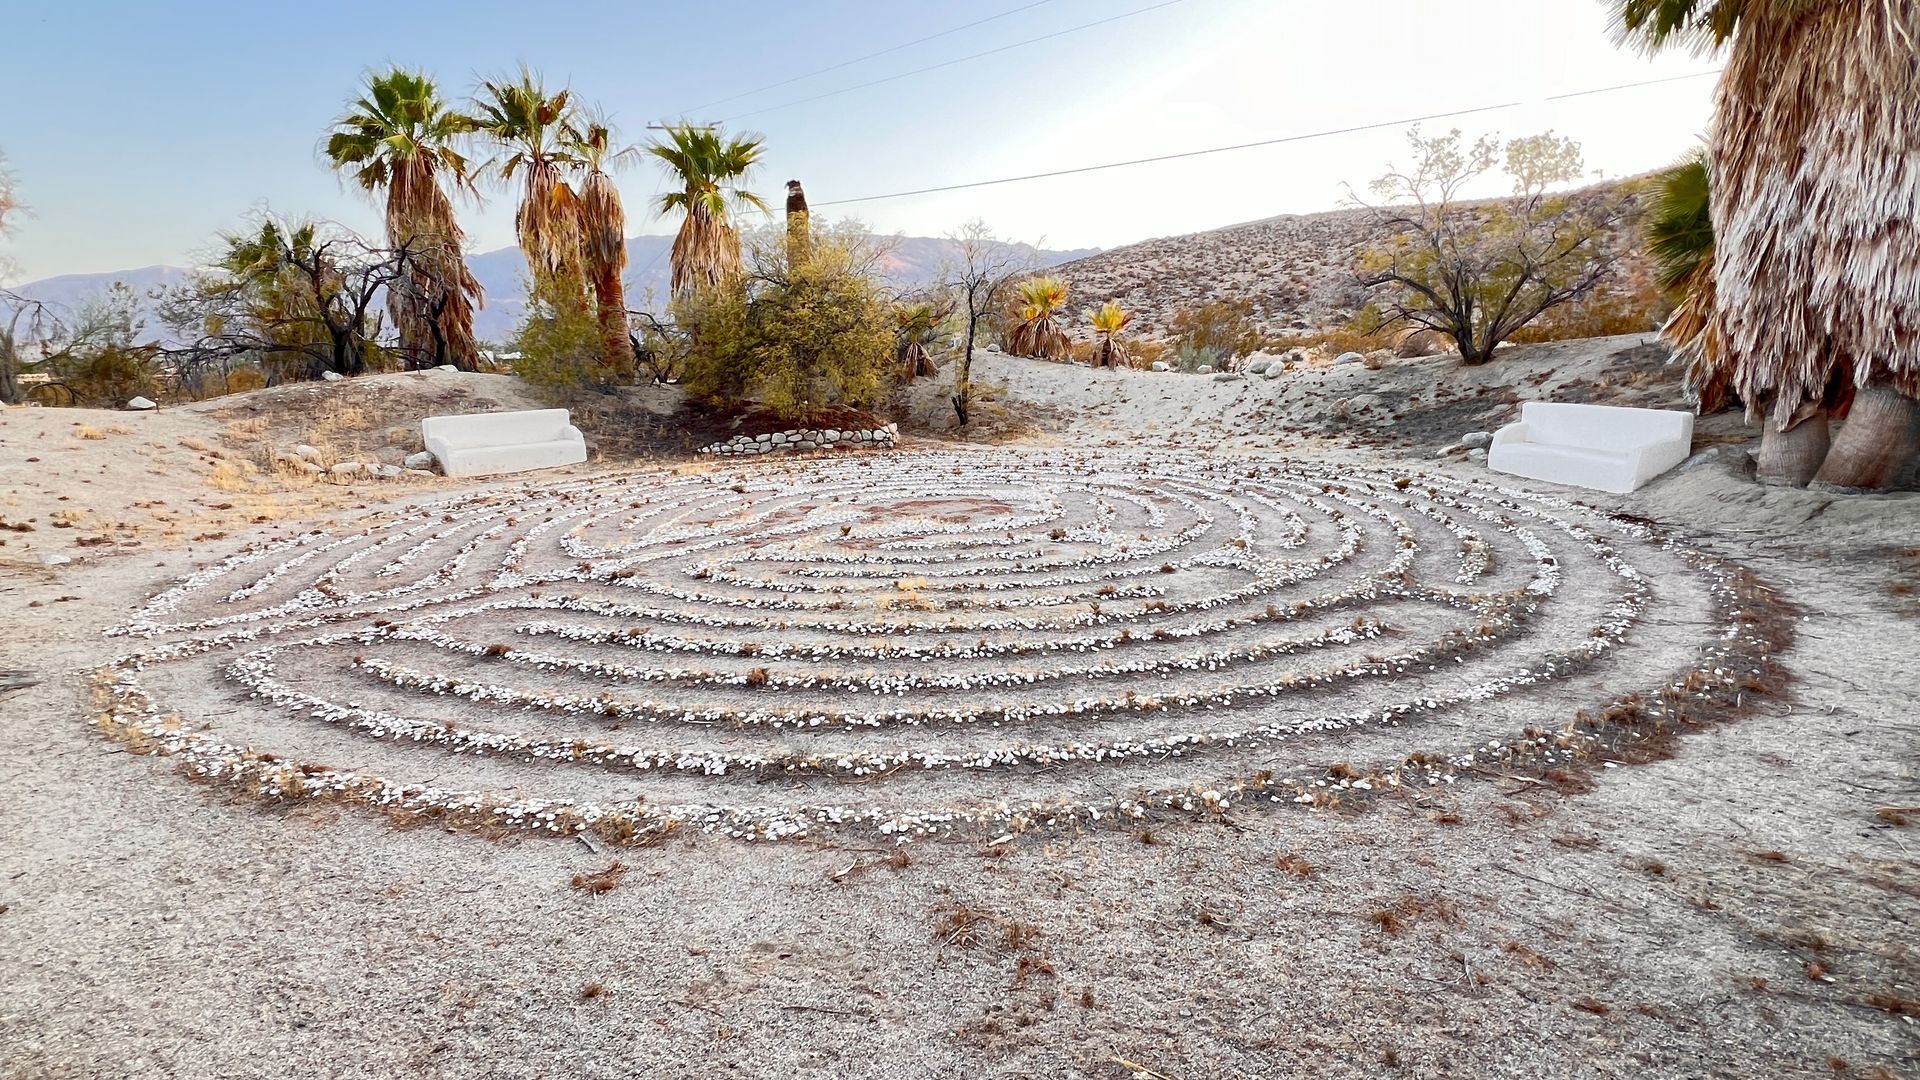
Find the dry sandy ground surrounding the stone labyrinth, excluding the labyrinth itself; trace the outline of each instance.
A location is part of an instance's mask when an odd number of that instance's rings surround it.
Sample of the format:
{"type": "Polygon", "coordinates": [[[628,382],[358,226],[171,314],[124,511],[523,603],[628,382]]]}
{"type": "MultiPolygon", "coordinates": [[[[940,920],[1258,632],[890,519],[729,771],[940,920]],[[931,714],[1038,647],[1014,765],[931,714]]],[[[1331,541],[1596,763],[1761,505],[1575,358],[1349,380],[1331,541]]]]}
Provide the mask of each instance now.
{"type": "MultiPolygon", "coordinates": [[[[1594,382],[1620,348],[1448,379],[1505,405],[1548,367],[1594,382]]],[[[985,367],[1031,444],[1340,459],[1382,432],[1319,409],[1444,375],[1404,363],[1315,373],[1290,404],[1286,379],[985,367]]],[[[396,398],[382,423],[436,407],[396,398]]],[[[1484,477],[1434,457],[1478,413],[1428,434],[1404,411],[1421,438],[1354,459],[1484,477]]],[[[44,676],[0,698],[0,1076],[1920,1076],[1916,834],[1876,813],[1920,803],[1899,555],[1920,496],[1761,492],[1732,459],[1588,496],[1805,615],[1786,698],[1592,790],[1484,780],[895,861],[839,834],[593,851],[242,805],[94,734],[84,673],[125,650],[100,630],[169,582],[248,538],[468,490],[213,488],[223,457],[182,442],[246,454],[215,442],[230,423],[0,413],[0,515],[36,525],[0,534],[0,667],[44,676]],[[56,546],[65,507],[111,542],[56,546]],[[614,857],[609,892],[570,884],[614,857]]]]}

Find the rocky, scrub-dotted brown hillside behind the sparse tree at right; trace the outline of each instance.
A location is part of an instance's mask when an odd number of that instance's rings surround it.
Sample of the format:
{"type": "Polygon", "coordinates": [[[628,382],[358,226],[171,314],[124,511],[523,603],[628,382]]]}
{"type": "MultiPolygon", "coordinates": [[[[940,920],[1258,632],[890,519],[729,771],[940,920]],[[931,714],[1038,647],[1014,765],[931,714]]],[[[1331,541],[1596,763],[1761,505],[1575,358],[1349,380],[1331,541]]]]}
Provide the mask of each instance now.
{"type": "MultiPolygon", "coordinates": [[[[1582,194],[1605,196],[1630,184],[1582,194]]],[[[1632,219],[1628,213],[1611,238],[1620,263],[1601,302],[1645,288],[1649,267],[1632,219]]],[[[1380,240],[1375,211],[1365,208],[1288,213],[1127,244],[1062,263],[1058,273],[1073,290],[1075,309],[1119,300],[1135,313],[1133,331],[1144,336],[1165,336],[1177,311],[1213,300],[1248,300],[1260,332],[1281,336],[1346,325],[1367,304],[1354,277],[1356,258],[1380,240]]]]}

